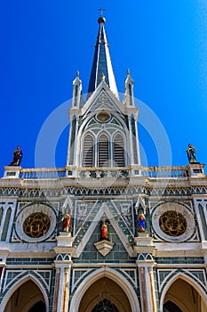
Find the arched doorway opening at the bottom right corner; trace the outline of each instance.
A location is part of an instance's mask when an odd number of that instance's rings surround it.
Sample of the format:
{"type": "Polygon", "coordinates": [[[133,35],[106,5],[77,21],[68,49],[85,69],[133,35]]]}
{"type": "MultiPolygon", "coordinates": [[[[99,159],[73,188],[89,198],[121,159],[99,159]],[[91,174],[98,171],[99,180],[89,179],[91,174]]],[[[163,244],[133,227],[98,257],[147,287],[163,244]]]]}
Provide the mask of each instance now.
{"type": "Polygon", "coordinates": [[[206,312],[207,307],[195,287],[178,278],[166,292],[163,312],[206,312]]]}

